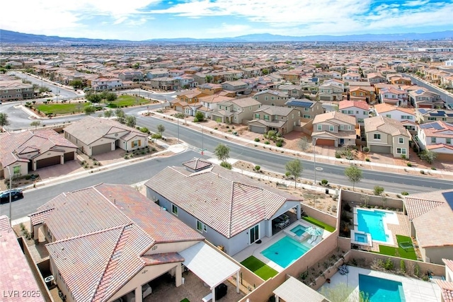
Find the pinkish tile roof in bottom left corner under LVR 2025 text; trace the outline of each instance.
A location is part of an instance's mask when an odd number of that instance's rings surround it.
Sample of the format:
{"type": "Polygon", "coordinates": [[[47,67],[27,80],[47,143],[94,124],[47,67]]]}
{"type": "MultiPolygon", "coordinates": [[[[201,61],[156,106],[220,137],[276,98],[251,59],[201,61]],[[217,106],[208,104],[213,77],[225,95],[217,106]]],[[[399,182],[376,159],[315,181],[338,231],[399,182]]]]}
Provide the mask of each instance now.
{"type": "Polygon", "coordinates": [[[40,297],[23,298],[23,291],[37,293],[40,288],[33,276],[28,262],[23,255],[21,246],[18,243],[16,234],[9,227],[7,216],[0,216],[0,291],[1,301],[4,302],[42,302],[40,297]],[[11,296],[8,294],[11,293],[11,296]],[[13,291],[18,291],[19,296],[14,296],[13,291]]]}

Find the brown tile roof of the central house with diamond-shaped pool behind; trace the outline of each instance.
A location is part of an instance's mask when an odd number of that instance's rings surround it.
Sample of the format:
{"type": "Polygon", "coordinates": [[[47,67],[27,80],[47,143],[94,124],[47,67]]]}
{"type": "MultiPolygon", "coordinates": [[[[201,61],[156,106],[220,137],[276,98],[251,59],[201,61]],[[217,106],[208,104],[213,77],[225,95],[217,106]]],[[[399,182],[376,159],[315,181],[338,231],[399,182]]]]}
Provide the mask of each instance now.
{"type": "Polygon", "coordinates": [[[167,167],[145,185],[226,238],[270,219],[288,200],[300,200],[219,165],[198,173],[167,167]]]}

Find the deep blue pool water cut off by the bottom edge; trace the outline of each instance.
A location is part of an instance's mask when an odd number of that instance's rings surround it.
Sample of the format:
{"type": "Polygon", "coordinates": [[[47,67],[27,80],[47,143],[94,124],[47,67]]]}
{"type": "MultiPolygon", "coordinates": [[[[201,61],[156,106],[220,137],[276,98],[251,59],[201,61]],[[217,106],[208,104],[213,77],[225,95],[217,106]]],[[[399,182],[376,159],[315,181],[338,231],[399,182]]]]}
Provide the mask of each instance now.
{"type": "Polygon", "coordinates": [[[359,291],[369,302],[406,302],[403,284],[398,281],[359,274],[359,291]]]}

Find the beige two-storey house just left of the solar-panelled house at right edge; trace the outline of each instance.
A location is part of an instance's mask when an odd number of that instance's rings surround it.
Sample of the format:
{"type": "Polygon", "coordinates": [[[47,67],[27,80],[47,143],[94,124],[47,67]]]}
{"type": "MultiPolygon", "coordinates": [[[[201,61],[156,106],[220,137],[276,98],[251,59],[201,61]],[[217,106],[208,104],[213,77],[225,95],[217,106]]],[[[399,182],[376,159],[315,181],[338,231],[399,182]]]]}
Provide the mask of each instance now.
{"type": "Polygon", "coordinates": [[[409,158],[411,134],[401,122],[378,115],[365,120],[365,137],[370,152],[409,158]]]}

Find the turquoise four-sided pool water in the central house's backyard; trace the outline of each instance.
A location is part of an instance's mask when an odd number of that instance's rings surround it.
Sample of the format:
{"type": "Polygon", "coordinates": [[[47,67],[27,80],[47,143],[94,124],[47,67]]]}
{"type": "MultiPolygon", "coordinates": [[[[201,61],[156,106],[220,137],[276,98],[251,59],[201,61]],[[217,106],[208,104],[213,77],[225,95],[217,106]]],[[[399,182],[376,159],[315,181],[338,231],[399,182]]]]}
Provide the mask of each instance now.
{"type": "Polygon", "coordinates": [[[305,245],[285,236],[273,245],[270,245],[269,248],[263,250],[261,255],[277,263],[280,267],[285,268],[309,250],[310,248],[307,248],[305,245]]]}

